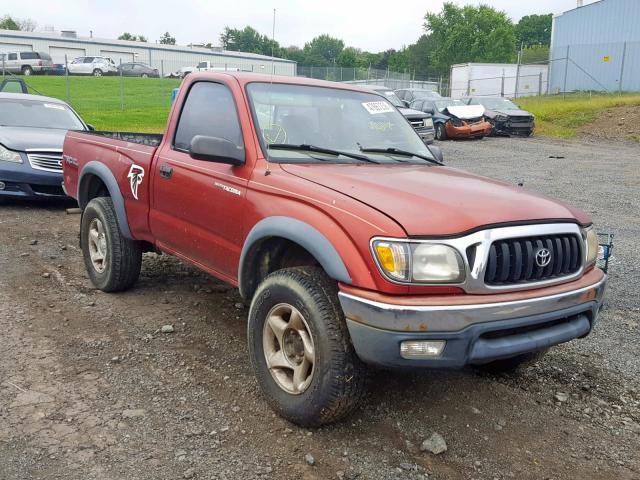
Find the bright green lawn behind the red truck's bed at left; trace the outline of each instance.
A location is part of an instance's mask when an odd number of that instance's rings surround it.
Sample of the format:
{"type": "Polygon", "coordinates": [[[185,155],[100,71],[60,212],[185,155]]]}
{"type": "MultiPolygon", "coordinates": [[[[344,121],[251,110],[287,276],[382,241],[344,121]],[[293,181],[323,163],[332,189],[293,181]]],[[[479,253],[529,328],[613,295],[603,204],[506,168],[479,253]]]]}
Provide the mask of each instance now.
{"type": "Polygon", "coordinates": [[[31,93],[68,102],[98,130],[148,133],[164,131],[171,90],[180,86],[180,80],[167,78],[69,77],[68,88],[63,76],[25,80],[31,93]]]}

